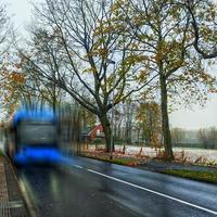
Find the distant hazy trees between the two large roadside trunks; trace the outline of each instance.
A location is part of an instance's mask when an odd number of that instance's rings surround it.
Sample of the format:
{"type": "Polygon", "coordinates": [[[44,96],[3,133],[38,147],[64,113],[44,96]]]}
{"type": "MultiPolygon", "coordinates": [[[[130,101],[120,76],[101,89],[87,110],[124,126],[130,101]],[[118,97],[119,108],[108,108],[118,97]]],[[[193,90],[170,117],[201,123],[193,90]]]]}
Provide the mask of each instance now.
{"type": "Polygon", "coordinates": [[[162,143],[161,108],[154,102],[127,100],[114,110],[114,140],[124,144],[162,143]]]}

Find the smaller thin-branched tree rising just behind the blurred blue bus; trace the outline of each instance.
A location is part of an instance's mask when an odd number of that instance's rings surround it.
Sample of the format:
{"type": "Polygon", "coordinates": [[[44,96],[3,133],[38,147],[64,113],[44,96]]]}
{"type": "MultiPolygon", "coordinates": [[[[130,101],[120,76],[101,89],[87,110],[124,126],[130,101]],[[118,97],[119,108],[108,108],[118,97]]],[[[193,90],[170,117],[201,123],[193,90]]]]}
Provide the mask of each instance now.
{"type": "Polygon", "coordinates": [[[60,104],[60,99],[63,94],[63,90],[56,86],[55,80],[60,71],[63,74],[66,71],[63,66],[62,44],[59,40],[52,41],[55,38],[55,34],[49,34],[41,27],[33,25],[29,30],[33,38],[28,43],[34,48],[29,55],[33,56],[34,62],[23,55],[24,51],[20,51],[22,56],[21,67],[28,77],[28,85],[51,104],[55,113],[58,103],[60,104]],[[43,68],[46,74],[42,75],[39,68],[43,68]]]}

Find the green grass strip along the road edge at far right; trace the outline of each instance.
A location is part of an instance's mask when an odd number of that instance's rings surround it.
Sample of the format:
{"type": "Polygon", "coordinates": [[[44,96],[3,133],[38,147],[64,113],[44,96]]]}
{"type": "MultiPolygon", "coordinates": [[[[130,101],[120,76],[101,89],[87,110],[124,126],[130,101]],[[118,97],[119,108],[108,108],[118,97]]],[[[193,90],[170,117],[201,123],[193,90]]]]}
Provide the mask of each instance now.
{"type": "Polygon", "coordinates": [[[169,169],[169,170],[164,170],[162,173],[182,177],[182,178],[190,178],[190,179],[194,179],[199,181],[217,183],[217,173],[214,173],[214,171],[192,171],[192,170],[184,170],[184,169],[180,169],[180,170],[169,169]]]}

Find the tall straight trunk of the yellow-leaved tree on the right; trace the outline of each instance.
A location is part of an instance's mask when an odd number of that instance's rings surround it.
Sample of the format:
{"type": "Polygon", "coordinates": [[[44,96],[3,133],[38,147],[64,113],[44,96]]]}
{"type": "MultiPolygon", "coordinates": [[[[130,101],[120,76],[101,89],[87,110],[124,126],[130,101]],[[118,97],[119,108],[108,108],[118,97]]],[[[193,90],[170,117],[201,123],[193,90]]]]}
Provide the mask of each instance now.
{"type": "Polygon", "coordinates": [[[165,158],[168,161],[174,159],[171,148],[171,136],[169,130],[169,118],[167,108],[167,87],[164,75],[159,77],[161,81],[161,107],[162,107],[162,132],[164,139],[165,158]]]}

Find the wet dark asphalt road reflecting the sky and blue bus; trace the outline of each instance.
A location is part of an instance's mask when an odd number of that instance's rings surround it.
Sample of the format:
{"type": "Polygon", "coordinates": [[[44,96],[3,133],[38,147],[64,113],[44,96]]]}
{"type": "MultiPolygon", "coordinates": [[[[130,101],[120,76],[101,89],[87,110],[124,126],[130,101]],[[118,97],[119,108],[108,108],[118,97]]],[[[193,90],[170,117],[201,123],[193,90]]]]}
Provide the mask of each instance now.
{"type": "Polygon", "coordinates": [[[217,216],[217,186],[75,157],[18,180],[37,217],[217,216]]]}

